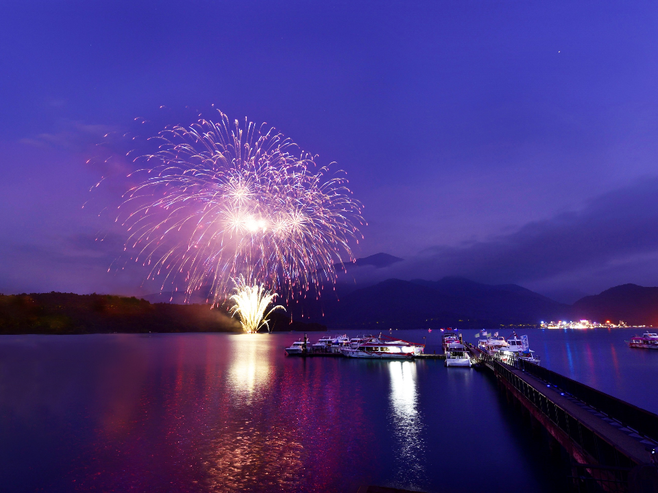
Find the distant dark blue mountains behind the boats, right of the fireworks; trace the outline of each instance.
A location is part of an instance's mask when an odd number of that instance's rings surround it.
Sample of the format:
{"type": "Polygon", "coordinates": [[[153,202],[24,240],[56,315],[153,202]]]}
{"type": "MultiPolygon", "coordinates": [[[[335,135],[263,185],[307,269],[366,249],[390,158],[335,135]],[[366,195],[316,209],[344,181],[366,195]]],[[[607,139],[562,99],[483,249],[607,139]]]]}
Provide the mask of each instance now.
{"type": "MultiPolygon", "coordinates": [[[[388,253],[376,253],[346,263],[344,268],[348,272],[367,266],[382,269],[402,261],[388,253]]],[[[343,270],[342,264],[336,268],[343,270]]],[[[438,281],[387,279],[367,286],[343,282],[333,289],[324,286],[327,288],[327,291],[310,290],[305,299],[295,299],[288,313],[295,320],[310,320],[332,329],[489,328],[582,318],[658,325],[658,288],[636,284],[585,296],[573,305],[559,303],[516,284],[488,285],[454,276],[438,281]]],[[[144,298],[151,303],[185,303],[180,292],[156,293],[144,298]]],[[[204,303],[201,294],[195,301],[204,303]]]]}

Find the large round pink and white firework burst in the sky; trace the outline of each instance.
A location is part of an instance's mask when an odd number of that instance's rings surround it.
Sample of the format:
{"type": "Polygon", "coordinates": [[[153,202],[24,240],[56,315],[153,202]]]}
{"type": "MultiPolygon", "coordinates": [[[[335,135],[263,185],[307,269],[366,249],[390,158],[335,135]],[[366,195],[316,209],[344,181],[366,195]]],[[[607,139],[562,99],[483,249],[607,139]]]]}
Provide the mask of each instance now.
{"type": "Polygon", "coordinates": [[[151,266],[149,277],[164,277],[163,289],[182,281],[189,297],[210,285],[213,304],[239,276],[287,298],[334,282],[364,224],[344,174],[329,176],[265,124],[219,115],[155,137],[158,151],[136,172],[147,177],[121,205],[126,248],[151,266]]]}

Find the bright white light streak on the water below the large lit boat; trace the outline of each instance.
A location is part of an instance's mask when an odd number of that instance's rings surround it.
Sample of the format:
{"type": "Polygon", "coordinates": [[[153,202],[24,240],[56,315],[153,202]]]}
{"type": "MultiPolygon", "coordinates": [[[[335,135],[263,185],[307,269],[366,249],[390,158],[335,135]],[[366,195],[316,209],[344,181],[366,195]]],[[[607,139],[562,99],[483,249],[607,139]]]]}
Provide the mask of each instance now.
{"type": "Polygon", "coordinates": [[[422,416],[418,412],[415,362],[389,362],[393,429],[398,441],[398,471],[401,486],[413,486],[422,479],[424,440],[422,416]]]}

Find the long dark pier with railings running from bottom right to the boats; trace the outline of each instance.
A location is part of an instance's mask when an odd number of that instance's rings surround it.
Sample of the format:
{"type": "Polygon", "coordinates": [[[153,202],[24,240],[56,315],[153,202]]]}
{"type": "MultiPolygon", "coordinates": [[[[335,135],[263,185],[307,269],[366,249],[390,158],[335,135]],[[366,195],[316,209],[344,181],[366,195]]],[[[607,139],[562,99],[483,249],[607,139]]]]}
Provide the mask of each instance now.
{"type": "MultiPolygon", "coordinates": [[[[493,357],[472,344],[507,399],[572,457],[576,491],[658,493],[658,416],[516,357],[493,357]]],[[[647,390],[655,392],[648,383],[647,390]]]]}

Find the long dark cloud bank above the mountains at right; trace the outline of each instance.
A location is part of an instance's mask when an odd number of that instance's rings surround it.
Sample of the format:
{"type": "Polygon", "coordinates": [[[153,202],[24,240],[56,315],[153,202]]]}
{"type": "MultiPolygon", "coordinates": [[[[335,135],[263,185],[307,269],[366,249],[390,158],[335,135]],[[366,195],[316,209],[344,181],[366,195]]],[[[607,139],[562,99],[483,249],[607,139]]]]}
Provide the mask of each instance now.
{"type": "MultiPolygon", "coordinates": [[[[430,247],[391,268],[362,268],[353,276],[358,283],[367,283],[385,277],[459,275],[485,283],[544,286],[556,296],[555,284],[589,277],[596,280],[596,286],[589,283],[589,290],[605,289],[637,280],[630,278],[639,270],[646,273],[648,257],[658,253],[657,197],[658,177],[646,177],[596,197],[579,211],[528,223],[484,241],[430,247]]],[[[647,281],[651,278],[645,276],[647,281]]],[[[653,282],[658,283],[658,278],[653,282]]],[[[565,288],[578,289],[582,288],[565,288]]]]}

